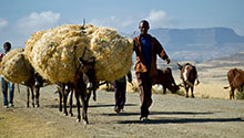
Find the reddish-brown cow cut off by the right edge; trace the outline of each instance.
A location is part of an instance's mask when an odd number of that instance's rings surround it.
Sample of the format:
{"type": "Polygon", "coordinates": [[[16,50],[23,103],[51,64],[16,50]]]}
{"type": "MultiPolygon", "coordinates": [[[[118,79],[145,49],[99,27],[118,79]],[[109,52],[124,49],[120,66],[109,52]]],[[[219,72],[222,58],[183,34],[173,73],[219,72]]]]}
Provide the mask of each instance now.
{"type": "MultiPolygon", "coordinates": [[[[235,89],[241,91],[244,86],[244,71],[241,68],[232,68],[227,72],[227,79],[231,87],[230,99],[234,99],[235,89]]],[[[228,88],[228,87],[224,87],[228,88]]]]}

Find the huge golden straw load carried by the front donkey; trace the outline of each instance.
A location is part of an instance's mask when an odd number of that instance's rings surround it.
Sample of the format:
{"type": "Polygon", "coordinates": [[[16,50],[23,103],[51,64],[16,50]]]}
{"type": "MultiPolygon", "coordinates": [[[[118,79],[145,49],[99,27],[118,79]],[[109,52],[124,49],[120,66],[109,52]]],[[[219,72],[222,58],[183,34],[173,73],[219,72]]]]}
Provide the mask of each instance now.
{"type": "Polygon", "coordinates": [[[95,57],[99,81],[116,79],[132,65],[132,44],[113,29],[91,24],[37,32],[26,42],[24,52],[35,71],[52,83],[73,82],[82,55],[95,57]]]}

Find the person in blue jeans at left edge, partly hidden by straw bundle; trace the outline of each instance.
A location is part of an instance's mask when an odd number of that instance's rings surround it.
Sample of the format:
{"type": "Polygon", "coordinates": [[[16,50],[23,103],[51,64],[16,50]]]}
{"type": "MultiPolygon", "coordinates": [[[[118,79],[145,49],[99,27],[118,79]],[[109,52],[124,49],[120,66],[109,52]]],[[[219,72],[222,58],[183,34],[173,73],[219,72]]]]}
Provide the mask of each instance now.
{"type": "MultiPolygon", "coordinates": [[[[9,42],[6,42],[3,44],[4,54],[7,54],[11,50],[11,44],[9,42]]],[[[4,55],[2,54],[2,55],[4,55]]],[[[0,61],[2,61],[2,57],[0,61]]],[[[3,95],[3,105],[4,108],[8,108],[9,106],[13,106],[13,93],[14,93],[14,84],[11,82],[6,81],[3,77],[1,77],[1,88],[2,88],[2,95],[3,95]],[[8,88],[9,88],[9,102],[8,102],[8,88]]]]}

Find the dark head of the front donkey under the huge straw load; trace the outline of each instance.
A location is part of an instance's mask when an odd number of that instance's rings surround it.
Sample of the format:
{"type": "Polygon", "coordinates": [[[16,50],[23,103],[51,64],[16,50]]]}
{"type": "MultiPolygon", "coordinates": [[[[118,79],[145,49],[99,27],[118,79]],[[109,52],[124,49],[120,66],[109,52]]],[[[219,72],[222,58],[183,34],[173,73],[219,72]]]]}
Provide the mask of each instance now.
{"type": "Polygon", "coordinates": [[[95,77],[95,57],[91,57],[89,60],[83,60],[79,57],[79,62],[82,71],[82,79],[87,85],[88,89],[92,89],[96,86],[96,77],[95,77]]]}

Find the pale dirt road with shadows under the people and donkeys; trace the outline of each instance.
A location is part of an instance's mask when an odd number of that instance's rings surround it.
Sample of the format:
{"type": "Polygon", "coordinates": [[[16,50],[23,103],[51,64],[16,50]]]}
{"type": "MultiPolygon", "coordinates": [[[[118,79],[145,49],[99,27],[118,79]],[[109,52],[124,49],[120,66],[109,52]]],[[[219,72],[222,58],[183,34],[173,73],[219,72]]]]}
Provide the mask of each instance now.
{"type": "MultiPolygon", "coordinates": [[[[243,138],[244,100],[185,98],[153,95],[150,120],[140,121],[138,93],[128,93],[124,112],[115,114],[112,92],[98,92],[90,102],[89,125],[75,123],[58,109],[54,86],[41,89],[40,108],[26,107],[26,92],[16,91],[14,107],[2,107],[0,94],[0,138],[8,137],[187,137],[243,138]]],[[[214,92],[213,92],[214,93],[214,92]]]]}

